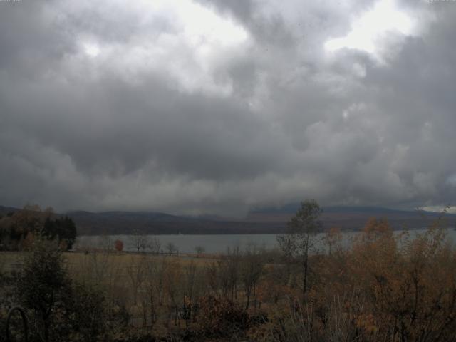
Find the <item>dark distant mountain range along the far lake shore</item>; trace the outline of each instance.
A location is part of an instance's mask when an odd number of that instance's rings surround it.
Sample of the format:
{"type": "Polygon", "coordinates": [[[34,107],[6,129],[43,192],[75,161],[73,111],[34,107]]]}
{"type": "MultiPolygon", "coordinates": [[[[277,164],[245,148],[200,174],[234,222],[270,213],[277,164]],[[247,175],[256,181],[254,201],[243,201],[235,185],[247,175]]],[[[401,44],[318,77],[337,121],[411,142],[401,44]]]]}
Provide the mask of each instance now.
{"type": "MultiPolygon", "coordinates": [[[[280,208],[254,209],[244,219],[224,217],[186,217],[162,212],[67,212],[76,223],[78,234],[130,234],[136,230],[147,234],[267,234],[284,232],[286,222],[299,204],[280,208]]],[[[0,214],[19,210],[1,207],[0,214]]],[[[371,217],[388,219],[393,229],[428,227],[438,217],[436,212],[395,210],[383,207],[326,207],[321,220],[323,228],[359,230],[371,217]]],[[[456,214],[442,217],[447,227],[456,227],[456,214]]]]}

